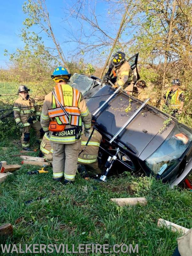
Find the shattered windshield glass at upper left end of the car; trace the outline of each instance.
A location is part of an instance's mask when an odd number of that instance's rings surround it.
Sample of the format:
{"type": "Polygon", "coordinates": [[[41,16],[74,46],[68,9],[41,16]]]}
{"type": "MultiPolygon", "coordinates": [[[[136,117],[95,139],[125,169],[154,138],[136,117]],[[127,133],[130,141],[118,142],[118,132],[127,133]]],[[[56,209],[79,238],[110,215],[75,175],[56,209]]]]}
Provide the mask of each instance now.
{"type": "Polygon", "coordinates": [[[93,79],[85,75],[79,75],[77,73],[71,76],[70,82],[69,82],[69,84],[72,87],[82,92],[83,95],[92,88],[93,83],[94,83],[93,79]]]}

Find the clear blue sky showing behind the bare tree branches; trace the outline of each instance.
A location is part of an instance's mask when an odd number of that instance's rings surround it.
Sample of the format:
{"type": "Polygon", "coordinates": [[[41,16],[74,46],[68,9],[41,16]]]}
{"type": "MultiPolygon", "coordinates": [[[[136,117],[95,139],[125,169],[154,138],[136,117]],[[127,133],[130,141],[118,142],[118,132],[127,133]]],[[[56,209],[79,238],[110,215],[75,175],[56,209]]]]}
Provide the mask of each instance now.
{"type": "MultiPolygon", "coordinates": [[[[8,68],[9,66],[9,56],[4,56],[4,50],[6,49],[9,53],[13,53],[17,48],[22,49],[24,47],[24,43],[21,38],[18,36],[20,34],[23,26],[23,21],[26,19],[26,15],[22,11],[22,5],[25,0],[9,0],[9,1],[1,1],[0,5],[0,68],[8,68]]],[[[83,22],[85,34],[82,34],[81,31],[81,23],[78,19],[71,18],[68,14],[68,9],[74,8],[76,6],[81,6],[81,11],[88,15],[90,19],[90,10],[95,8],[95,13],[97,17],[97,21],[101,28],[112,38],[116,37],[116,33],[119,28],[119,24],[124,13],[124,6],[121,5],[122,15],[119,15],[119,12],[113,12],[113,9],[117,9],[116,1],[106,1],[106,0],[46,0],[46,6],[49,12],[49,17],[51,20],[53,32],[60,42],[60,46],[65,54],[65,56],[69,56],[69,60],[79,61],[80,58],[84,59],[85,63],[91,63],[96,66],[100,66],[105,62],[107,52],[110,51],[110,45],[108,49],[101,47],[100,49],[94,49],[90,53],[84,53],[84,55],[78,56],[76,52],[79,52],[78,46],[79,43],[72,42],[71,40],[74,37],[79,38],[81,35],[81,39],[83,42],[89,42],[93,45],[100,44],[99,36],[101,35],[100,31],[94,32],[94,36],[91,38],[89,35],[92,35],[92,28],[86,22],[83,22]],[[78,5],[74,5],[74,3],[78,2],[78,5]],[[81,6],[81,2],[84,4],[81,6]],[[73,34],[73,35],[72,35],[73,34]],[[103,53],[103,49],[105,52],[103,53]],[[102,57],[103,54],[103,57],[102,57]],[[71,57],[72,56],[72,57],[71,57]],[[73,57],[75,56],[75,57],[73,57]],[[100,60],[98,58],[100,57],[100,60]],[[71,59],[70,59],[71,58],[71,59]],[[103,59],[102,59],[103,58],[103,59]],[[97,61],[98,60],[98,61],[97,61]],[[98,63],[99,65],[98,65],[98,63]]],[[[40,32],[41,29],[37,27],[32,27],[32,30],[35,32],[40,32]]],[[[124,42],[129,41],[131,38],[128,36],[129,31],[124,31],[124,34],[121,36],[124,42]],[[128,33],[127,33],[128,32],[128,33]]],[[[131,34],[131,33],[130,33],[131,34]]],[[[52,41],[47,38],[44,32],[39,34],[42,36],[44,41],[44,45],[48,47],[55,47],[52,41]]],[[[132,35],[131,35],[132,37],[132,35]]],[[[108,38],[104,39],[109,40],[108,38]]],[[[110,40],[109,40],[110,41],[110,40]]],[[[110,41],[112,42],[112,41],[110,41]]],[[[82,45],[81,45],[82,46],[82,45]]]]}

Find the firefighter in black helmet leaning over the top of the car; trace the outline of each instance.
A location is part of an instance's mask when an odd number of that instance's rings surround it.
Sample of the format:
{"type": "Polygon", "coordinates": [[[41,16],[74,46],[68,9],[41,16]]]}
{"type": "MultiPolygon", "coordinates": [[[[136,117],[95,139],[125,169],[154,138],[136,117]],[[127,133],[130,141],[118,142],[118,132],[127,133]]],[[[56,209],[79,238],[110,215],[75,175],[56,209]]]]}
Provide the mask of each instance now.
{"type": "Polygon", "coordinates": [[[124,91],[132,95],[133,85],[137,81],[137,72],[132,70],[129,62],[125,59],[124,52],[117,52],[111,61],[114,66],[113,75],[116,77],[116,86],[122,86],[124,91]]]}

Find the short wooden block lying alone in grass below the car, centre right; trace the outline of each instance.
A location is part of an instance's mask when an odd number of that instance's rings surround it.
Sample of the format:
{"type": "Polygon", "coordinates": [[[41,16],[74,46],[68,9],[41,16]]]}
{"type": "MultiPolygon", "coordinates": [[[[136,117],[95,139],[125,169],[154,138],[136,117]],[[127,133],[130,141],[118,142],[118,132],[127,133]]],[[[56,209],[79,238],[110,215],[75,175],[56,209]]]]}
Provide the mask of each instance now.
{"type": "Polygon", "coordinates": [[[111,201],[116,203],[119,206],[147,204],[147,199],[145,197],[111,198],[111,201]]]}

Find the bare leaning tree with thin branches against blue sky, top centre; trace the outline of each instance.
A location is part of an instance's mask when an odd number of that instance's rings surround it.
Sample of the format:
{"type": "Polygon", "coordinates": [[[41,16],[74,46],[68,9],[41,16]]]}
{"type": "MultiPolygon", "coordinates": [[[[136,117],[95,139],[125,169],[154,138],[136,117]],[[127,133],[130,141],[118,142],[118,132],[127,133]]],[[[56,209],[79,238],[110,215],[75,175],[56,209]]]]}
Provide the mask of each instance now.
{"type": "MultiPolygon", "coordinates": [[[[137,2],[138,0],[135,1],[137,2]]],[[[124,3],[123,1],[115,1],[115,3],[101,1],[101,3],[106,9],[98,13],[96,1],[74,1],[72,8],[65,12],[64,22],[68,21],[69,26],[67,30],[69,38],[66,42],[75,42],[77,45],[74,55],[86,55],[92,64],[95,63],[100,67],[104,65],[104,70],[106,56],[111,55],[113,51],[126,51],[132,43],[132,31],[129,32],[129,28],[136,13],[135,3],[131,0],[124,3]],[[79,27],[75,31],[70,28],[70,19],[73,25],[78,21],[79,27]]]]}

